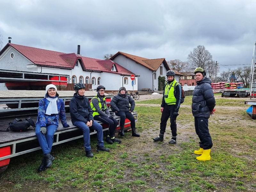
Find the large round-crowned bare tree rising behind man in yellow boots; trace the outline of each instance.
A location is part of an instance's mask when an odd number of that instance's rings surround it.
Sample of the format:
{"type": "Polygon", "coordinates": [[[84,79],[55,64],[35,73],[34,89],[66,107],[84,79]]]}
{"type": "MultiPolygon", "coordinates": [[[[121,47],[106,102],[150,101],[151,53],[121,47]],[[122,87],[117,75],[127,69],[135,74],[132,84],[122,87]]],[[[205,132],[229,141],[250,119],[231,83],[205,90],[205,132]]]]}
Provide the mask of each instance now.
{"type": "Polygon", "coordinates": [[[201,67],[205,71],[209,71],[210,64],[212,63],[212,55],[205,49],[204,45],[198,45],[194,48],[193,52],[188,54],[187,59],[191,69],[201,67]]]}

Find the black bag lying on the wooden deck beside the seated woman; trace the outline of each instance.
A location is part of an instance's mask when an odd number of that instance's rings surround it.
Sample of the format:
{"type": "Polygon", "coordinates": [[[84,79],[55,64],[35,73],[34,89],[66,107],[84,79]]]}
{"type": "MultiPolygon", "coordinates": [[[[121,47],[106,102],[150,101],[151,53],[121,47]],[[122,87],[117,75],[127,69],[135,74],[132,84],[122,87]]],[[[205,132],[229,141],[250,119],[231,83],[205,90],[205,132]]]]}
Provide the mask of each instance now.
{"type": "Polygon", "coordinates": [[[34,127],[34,129],[36,128],[34,121],[30,117],[26,118],[25,121],[22,121],[21,119],[16,118],[11,123],[9,123],[9,126],[6,129],[6,131],[2,131],[2,130],[0,131],[8,132],[9,129],[11,129],[12,131],[23,132],[23,131],[27,131],[30,126],[34,127]]]}

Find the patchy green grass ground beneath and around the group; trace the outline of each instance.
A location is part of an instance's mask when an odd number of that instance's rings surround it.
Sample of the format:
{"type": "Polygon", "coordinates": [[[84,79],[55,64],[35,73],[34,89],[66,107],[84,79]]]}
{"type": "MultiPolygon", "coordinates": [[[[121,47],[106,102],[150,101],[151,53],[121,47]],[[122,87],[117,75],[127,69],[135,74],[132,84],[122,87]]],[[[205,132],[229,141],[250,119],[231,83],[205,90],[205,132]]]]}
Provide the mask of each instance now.
{"type": "MultiPolygon", "coordinates": [[[[0,175],[0,191],[256,191],[256,122],[245,112],[241,98],[216,95],[216,114],[209,119],[212,160],[197,161],[198,148],[192,96],[186,96],[177,118],[177,144],[170,145],[170,123],[163,142],[153,142],[159,134],[161,99],[136,102],[140,138],[125,133],[121,144],[105,144],[110,153],[84,155],[83,140],[52,148],[55,161],[37,173],[41,151],[14,157],[0,175]]],[[[117,136],[117,135],[116,135],[117,136]]],[[[118,137],[118,136],[117,136],[118,137]]]]}

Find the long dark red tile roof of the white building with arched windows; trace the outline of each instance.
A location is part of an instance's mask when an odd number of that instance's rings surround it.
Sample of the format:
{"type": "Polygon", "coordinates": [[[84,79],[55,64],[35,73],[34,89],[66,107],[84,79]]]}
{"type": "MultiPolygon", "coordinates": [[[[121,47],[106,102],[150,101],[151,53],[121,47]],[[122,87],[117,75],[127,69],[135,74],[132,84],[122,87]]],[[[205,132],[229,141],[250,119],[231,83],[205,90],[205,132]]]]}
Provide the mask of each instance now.
{"type": "Polygon", "coordinates": [[[28,60],[36,65],[72,69],[75,67],[76,61],[81,60],[83,70],[103,71],[120,75],[134,74],[111,60],[100,60],[90,57],[83,57],[77,55],[76,53],[56,52],[11,43],[5,45],[5,47],[0,51],[0,55],[9,46],[12,46],[15,50],[20,52],[20,54],[24,55],[28,60]],[[116,65],[117,72],[111,71],[113,64],[116,65]]]}

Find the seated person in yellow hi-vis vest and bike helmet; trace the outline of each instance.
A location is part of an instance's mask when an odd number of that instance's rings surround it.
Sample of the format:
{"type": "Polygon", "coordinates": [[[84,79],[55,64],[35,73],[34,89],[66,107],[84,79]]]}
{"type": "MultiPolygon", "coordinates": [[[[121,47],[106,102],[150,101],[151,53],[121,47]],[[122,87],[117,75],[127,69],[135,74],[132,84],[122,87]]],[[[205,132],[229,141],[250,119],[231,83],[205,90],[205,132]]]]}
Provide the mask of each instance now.
{"type": "Polygon", "coordinates": [[[118,125],[118,121],[110,115],[108,110],[108,106],[105,98],[105,87],[103,85],[99,85],[97,87],[97,95],[91,100],[91,108],[92,108],[92,116],[94,120],[101,121],[102,123],[108,124],[108,136],[106,138],[106,142],[112,144],[113,142],[121,143],[121,140],[115,138],[116,126],[118,125]]]}

